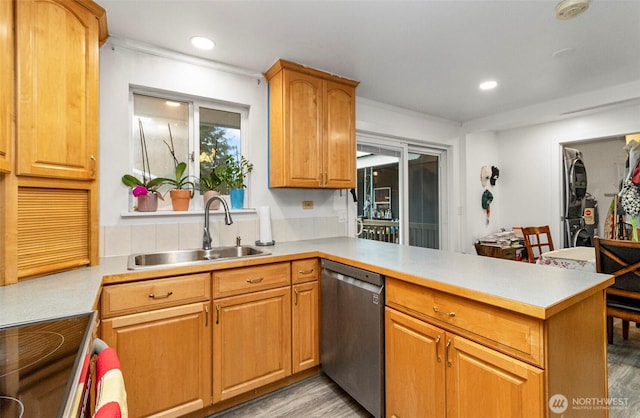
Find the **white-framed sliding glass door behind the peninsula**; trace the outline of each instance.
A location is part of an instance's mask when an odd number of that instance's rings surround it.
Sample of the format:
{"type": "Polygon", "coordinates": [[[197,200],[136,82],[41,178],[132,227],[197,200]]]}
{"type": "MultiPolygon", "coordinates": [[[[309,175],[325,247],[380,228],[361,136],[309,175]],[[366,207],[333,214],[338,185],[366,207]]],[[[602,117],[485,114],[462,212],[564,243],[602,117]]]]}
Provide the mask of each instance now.
{"type": "Polygon", "coordinates": [[[359,237],[441,247],[446,151],[358,137],[359,237]]]}

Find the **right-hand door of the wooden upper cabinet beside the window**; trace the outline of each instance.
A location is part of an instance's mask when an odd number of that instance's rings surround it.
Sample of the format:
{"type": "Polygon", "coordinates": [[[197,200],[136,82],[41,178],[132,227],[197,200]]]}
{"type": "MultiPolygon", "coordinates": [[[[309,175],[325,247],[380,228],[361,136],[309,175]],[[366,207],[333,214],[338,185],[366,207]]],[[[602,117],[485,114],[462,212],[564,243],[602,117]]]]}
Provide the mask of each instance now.
{"type": "Polygon", "coordinates": [[[356,186],[356,89],[324,82],[323,187],[356,186]]]}

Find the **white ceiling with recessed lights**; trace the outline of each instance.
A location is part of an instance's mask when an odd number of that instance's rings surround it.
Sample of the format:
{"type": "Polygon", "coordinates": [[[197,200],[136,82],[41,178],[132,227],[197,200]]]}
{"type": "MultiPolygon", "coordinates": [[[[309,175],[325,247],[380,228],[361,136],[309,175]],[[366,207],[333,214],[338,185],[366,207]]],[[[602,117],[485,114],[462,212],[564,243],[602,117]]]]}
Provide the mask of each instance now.
{"type": "Polygon", "coordinates": [[[592,0],[567,21],[548,0],[97,1],[112,36],[257,73],[284,58],[458,122],[640,80],[639,0],[592,0]],[[479,91],[489,78],[498,88],[479,91]]]}

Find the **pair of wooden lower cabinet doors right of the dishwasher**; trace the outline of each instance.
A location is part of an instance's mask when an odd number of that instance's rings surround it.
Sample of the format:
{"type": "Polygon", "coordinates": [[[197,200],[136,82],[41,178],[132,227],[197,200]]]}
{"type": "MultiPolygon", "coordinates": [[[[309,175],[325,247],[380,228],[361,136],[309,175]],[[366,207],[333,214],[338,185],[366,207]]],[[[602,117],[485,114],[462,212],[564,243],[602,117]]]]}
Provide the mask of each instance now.
{"type": "Polygon", "coordinates": [[[541,369],[385,309],[387,416],[544,416],[541,369]]]}

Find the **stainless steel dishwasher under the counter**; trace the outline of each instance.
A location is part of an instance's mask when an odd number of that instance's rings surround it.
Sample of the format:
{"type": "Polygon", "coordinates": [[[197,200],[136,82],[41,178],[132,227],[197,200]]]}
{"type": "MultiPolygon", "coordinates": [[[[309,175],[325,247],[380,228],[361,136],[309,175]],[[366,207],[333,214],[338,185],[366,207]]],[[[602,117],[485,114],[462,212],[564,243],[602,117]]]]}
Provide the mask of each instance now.
{"type": "Polygon", "coordinates": [[[322,370],[384,416],[384,276],[322,259],[322,370]]]}

